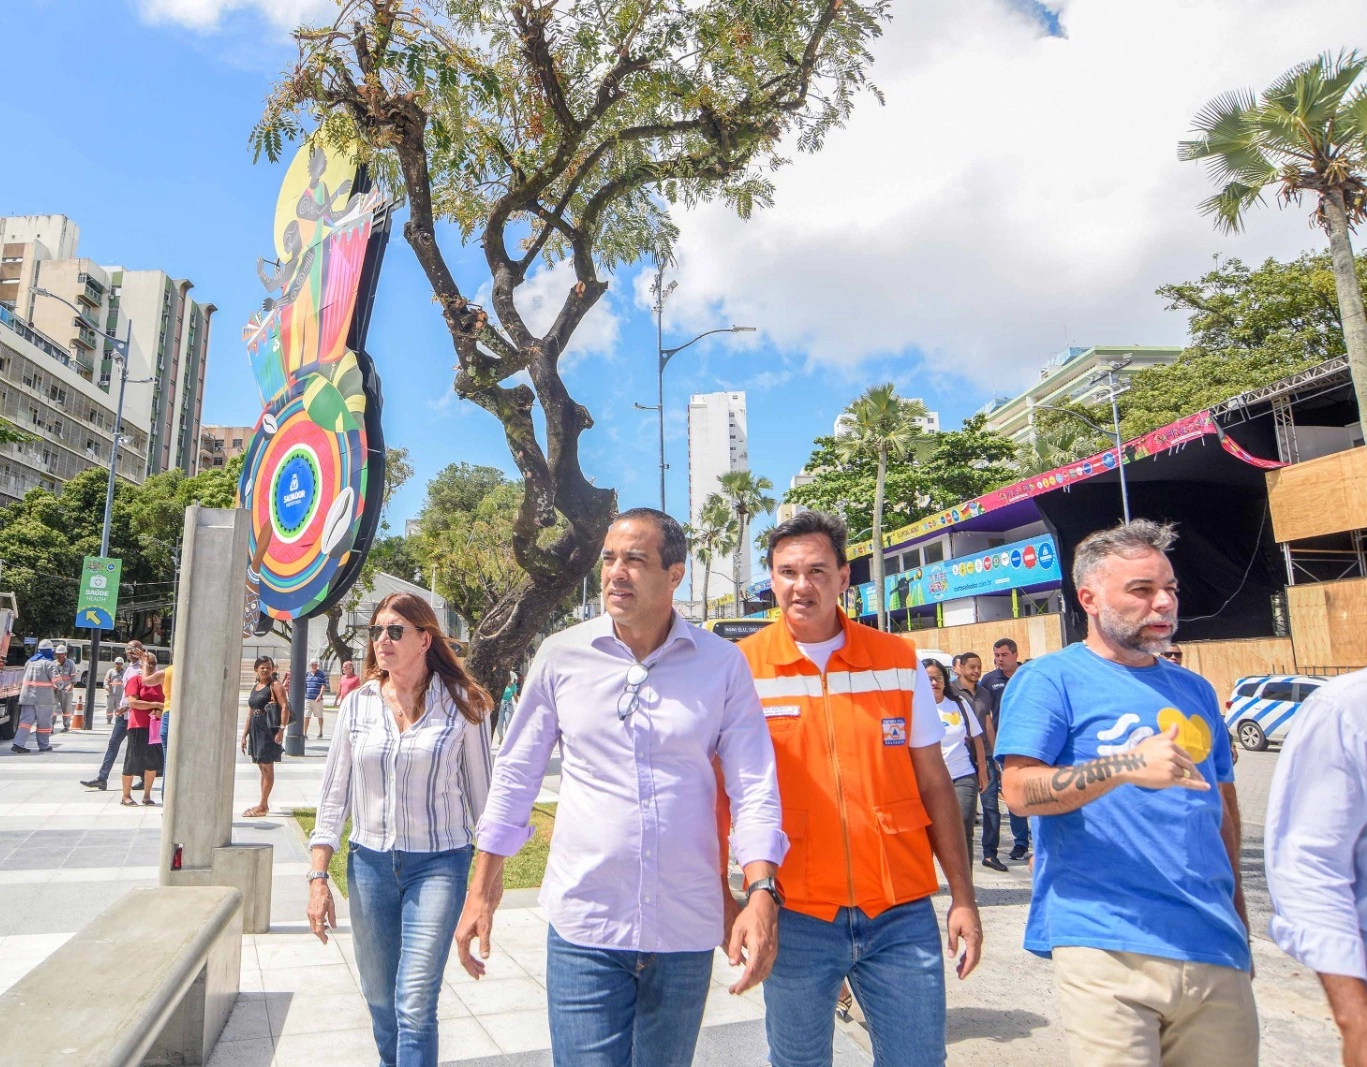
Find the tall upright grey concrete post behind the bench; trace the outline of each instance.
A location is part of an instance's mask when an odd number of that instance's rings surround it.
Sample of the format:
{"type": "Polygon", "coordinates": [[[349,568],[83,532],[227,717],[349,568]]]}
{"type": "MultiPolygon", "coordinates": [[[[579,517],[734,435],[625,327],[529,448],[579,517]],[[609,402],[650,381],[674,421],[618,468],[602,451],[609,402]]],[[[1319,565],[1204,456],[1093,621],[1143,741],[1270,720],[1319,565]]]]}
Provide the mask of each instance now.
{"type": "Polygon", "coordinates": [[[185,512],[175,612],[174,728],[161,820],[163,885],[232,885],[247,933],[271,928],[271,847],[232,844],[242,616],[250,518],[185,512]]]}

